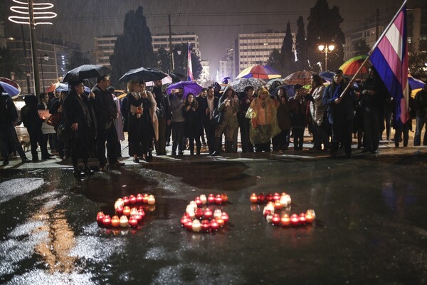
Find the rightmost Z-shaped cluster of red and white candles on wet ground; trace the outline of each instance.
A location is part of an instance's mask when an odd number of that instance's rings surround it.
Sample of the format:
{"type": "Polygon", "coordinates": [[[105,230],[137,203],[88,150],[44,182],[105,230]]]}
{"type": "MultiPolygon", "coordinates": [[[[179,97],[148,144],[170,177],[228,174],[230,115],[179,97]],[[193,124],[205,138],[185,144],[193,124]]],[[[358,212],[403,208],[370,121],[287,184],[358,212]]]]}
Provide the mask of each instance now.
{"type": "Polygon", "coordinates": [[[263,215],[268,223],[275,226],[297,227],[312,224],[316,218],[314,209],[308,209],[307,212],[300,214],[289,214],[292,200],[290,199],[290,195],[285,192],[281,195],[277,192],[274,194],[268,193],[267,195],[253,193],[250,199],[253,204],[267,202],[263,208],[263,215]]]}

